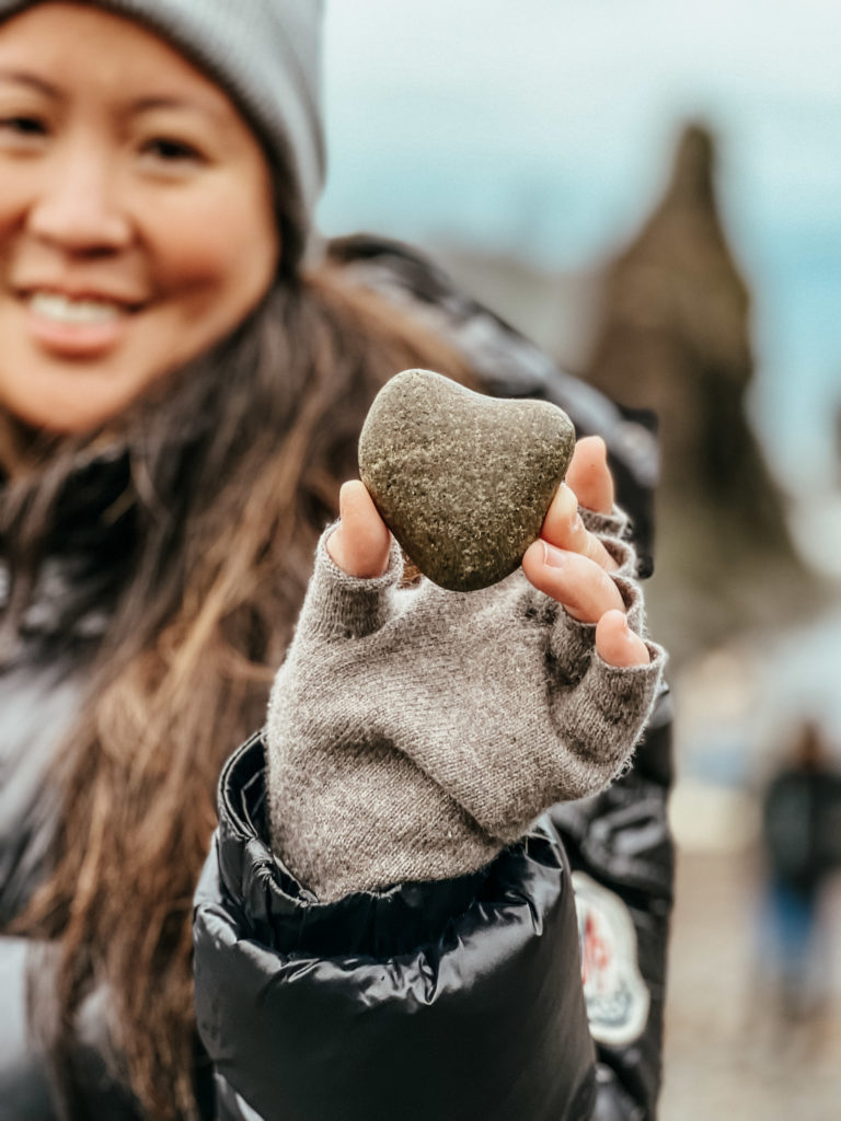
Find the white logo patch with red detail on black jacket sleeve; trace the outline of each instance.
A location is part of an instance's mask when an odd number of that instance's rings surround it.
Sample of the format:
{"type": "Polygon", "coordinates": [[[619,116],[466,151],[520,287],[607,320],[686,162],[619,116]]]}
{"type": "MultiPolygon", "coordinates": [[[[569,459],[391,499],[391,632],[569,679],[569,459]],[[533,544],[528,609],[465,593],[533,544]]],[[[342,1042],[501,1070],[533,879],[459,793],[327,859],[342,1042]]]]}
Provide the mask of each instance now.
{"type": "Polygon", "coordinates": [[[572,884],[590,1031],[597,1043],[625,1047],[643,1034],[650,1006],[634,920],[619,896],[584,872],[573,872],[572,884]]]}

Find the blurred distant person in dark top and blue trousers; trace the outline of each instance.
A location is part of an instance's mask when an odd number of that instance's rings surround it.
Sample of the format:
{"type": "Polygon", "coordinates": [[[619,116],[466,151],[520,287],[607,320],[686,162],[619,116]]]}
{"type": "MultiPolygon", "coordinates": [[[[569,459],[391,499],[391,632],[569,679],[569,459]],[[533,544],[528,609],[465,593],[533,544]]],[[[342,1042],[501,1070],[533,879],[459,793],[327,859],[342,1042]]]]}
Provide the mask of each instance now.
{"type": "Polygon", "coordinates": [[[763,797],[766,900],[763,1007],[783,1044],[817,1026],[831,993],[824,923],[830,880],[841,868],[841,771],[815,721],[797,730],[763,797]]]}

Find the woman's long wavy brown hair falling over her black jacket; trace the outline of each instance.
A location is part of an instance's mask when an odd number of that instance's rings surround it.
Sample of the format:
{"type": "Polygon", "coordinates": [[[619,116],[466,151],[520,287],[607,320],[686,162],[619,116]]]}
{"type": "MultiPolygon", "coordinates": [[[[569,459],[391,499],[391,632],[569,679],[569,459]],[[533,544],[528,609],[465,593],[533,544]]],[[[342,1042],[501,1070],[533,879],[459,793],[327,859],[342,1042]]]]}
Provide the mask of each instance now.
{"type": "Polygon", "coordinates": [[[56,951],[49,1036],[68,1101],[73,1026],[104,982],[145,1114],[196,1114],[192,896],[220,768],[264,721],[367,407],[413,364],[466,378],[447,348],[327,263],[279,277],[232,337],[107,432],[45,439],[6,421],[7,639],[81,460],[117,448],[111,621],[52,776],[52,871],[18,923],[56,951]]]}

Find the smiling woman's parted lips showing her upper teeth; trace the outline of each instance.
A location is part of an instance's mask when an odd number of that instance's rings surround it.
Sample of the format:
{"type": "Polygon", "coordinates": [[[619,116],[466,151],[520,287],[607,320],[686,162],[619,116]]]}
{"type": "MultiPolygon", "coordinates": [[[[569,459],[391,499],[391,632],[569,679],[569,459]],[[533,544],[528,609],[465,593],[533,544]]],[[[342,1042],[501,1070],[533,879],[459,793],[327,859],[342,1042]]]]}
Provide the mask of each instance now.
{"type": "Polygon", "coordinates": [[[33,291],[24,297],[33,339],[64,358],[94,358],[117,346],[136,306],[98,296],[33,291]]]}

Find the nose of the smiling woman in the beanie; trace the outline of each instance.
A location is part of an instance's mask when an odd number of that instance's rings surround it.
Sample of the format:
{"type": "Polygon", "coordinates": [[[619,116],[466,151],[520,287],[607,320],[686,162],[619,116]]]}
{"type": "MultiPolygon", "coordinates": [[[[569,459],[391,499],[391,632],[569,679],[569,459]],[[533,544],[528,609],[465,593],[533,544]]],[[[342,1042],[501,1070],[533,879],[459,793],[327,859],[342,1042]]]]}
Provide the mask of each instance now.
{"type": "Polygon", "coordinates": [[[29,232],[65,252],[96,256],[123,249],[131,223],[121,198],[114,157],[67,143],[38,176],[29,232]]]}

